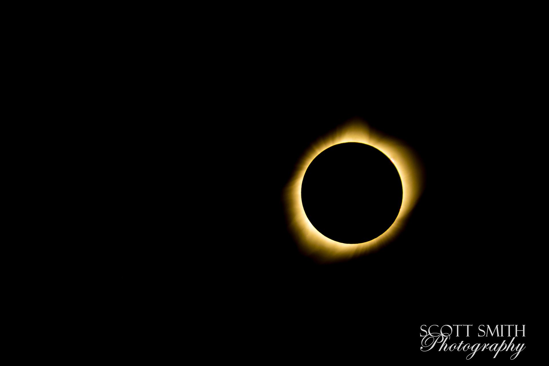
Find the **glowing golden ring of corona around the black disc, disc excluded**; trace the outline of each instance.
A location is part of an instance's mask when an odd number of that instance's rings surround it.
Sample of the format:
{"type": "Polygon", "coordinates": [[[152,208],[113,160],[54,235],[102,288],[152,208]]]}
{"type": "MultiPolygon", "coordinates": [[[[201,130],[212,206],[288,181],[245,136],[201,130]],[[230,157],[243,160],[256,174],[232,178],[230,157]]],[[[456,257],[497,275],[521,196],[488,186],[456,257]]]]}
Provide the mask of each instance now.
{"type": "Polygon", "coordinates": [[[423,167],[416,154],[404,142],[374,131],[366,122],[353,120],[318,139],[296,165],[284,189],[288,226],[303,254],[322,263],[348,260],[394,239],[404,227],[422,190],[423,167]],[[327,148],[346,142],[363,143],[382,151],[395,165],[402,182],[402,205],[395,222],[379,237],[360,244],[343,244],[322,235],[312,226],[301,202],[301,183],[309,164],[327,148]]]}

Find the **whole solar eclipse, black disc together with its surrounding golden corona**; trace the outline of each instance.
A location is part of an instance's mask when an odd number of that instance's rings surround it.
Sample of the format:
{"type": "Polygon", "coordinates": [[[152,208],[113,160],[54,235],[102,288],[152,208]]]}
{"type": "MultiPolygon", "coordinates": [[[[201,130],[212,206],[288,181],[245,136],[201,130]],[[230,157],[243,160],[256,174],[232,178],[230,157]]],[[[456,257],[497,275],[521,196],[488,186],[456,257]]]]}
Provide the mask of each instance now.
{"type": "Polygon", "coordinates": [[[393,240],[422,189],[423,167],[412,149],[353,120],[311,144],[296,164],[284,189],[288,227],[304,255],[349,260],[393,240]],[[353,209],[335,209],[334,200],[353,209]]]}

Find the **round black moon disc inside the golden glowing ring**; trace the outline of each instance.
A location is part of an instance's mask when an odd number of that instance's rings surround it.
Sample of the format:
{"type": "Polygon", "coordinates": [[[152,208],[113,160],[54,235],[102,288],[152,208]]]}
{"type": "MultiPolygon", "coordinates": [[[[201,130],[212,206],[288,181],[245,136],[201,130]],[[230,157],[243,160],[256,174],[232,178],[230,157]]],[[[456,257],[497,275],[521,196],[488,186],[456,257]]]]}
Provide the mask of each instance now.
{"type": "Polygon", "coordinates": [[[393,162],[371,145],[348,142],[318,154],[301,184],[307,218],[339,243],[382,235],[399,215],[402,182],[393,162]]]}

